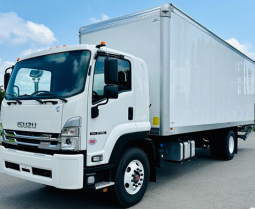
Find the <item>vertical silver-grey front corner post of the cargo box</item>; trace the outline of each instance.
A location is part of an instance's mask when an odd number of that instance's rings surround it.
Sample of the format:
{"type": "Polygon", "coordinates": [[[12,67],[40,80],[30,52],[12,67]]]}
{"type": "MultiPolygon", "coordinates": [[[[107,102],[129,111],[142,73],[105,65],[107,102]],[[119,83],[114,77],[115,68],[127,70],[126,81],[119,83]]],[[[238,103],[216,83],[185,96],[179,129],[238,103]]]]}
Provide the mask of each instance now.
{"type": "Polygon", "coordinates": [[[170,18],[171,4],[160,9],[160,135],[170,135],[170,18]]]}

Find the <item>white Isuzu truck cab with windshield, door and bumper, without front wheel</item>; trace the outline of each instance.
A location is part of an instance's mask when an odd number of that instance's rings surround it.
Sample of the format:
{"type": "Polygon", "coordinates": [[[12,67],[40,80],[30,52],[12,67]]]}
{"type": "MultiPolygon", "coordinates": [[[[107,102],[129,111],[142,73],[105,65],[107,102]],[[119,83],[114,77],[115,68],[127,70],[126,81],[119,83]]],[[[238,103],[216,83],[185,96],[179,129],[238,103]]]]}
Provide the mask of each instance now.
{"type": "Polygon", "coordinates": [[[62,189],[112,185],[120,152],[151,127],[145,62],[104,44],[28,55],[5,85],[0,171],[19,178],[62,189]]]}

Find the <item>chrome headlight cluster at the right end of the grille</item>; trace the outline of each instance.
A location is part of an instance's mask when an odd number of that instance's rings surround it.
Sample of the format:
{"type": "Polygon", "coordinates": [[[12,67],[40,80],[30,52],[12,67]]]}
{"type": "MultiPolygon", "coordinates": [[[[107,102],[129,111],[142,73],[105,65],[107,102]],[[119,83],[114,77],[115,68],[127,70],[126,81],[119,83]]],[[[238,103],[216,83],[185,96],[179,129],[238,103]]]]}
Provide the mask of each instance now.
{"type": "Polygon", "coordinates": [[[80,126],[81,118],[69,119],[61,131],[62,150],[80,150],[80,126]]]}

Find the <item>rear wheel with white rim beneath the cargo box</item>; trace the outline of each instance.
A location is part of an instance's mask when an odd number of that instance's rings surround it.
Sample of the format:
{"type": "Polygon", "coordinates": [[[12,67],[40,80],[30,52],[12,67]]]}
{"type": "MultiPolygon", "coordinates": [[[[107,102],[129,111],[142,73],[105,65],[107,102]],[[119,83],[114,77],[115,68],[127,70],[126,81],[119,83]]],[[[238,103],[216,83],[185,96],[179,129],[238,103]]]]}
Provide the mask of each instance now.
{"type": "Polygon", "coordinates": [[[235,155],[236,136],[233,130],[226,132],[222,142],[222,159],[232,160],[235,155]]]}

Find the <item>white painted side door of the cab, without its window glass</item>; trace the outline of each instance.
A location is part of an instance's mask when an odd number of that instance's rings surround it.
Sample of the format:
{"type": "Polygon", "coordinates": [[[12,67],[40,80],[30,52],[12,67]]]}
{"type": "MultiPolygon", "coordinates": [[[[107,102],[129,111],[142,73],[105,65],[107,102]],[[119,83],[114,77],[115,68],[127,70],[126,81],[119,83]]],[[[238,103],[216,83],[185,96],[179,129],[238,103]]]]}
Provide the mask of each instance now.
{"type": "MultiPolygon", "coordinates": [[[[128,58],[127,58],[128,59],[128,58]]],[[[132,81],[134,80],[133,73],[133,61],[132,59],[128,59],[131,63],[131,76],[132,81]]],[[[94,75],[94,66],[91,69],[91,75],[94,75]]],[[[100,103],[105,103],[106,100],[92,105],[92,85],[93,85],[93,76],[90,78],[90,91],[88,94],[88,131],[87,131],[87,153],[93,153],[103,150],[105,142],[109,137],[110,132],[114,129],[114,127],[119,124],[125,123],[133,123],[133,121],[128,120],[128,107],[134,107],[134,89],[135,83],[132,83],[132,90],[121,92],[118,95],[118,99],[109,99],[106,105],[99,106],[99,116],[97,118],[91,118],[91,108],[100,103]],[[91,132],[106,132],[106,134],[99,135],[90,135],[91,132]],[[94,145],[90,145],[89,139],[96,139],[97,143],[94,145]]],[[[135,117],[134,117],[135,120],[135,117]]],[[[88,159],[87,161],[91,161],[88,159]]]]}

